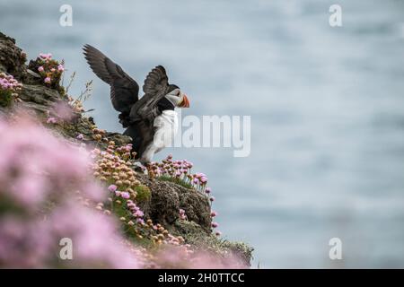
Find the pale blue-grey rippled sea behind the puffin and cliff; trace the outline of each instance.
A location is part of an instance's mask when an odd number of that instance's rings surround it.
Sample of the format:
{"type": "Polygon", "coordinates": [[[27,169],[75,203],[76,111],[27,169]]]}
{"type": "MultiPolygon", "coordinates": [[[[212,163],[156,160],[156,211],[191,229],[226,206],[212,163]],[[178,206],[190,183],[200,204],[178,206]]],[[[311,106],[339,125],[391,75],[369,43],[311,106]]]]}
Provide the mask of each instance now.
{"type": "Polygon", "coordinates": [[[86,109],[122,131],[90,43],[139,83],[164,65],[189,94],[182,115],[251,116],[251,153],[176,148],[205,172],[220,230],[253,266],[404,267],[404,1],[4,1],[0,30],[34,58],[51,52],[94,80],[86,109]],[[59,25],[61,4],[73,27],[59,25]],[[343,259],[329,259],[329,239],[343,259]]]}

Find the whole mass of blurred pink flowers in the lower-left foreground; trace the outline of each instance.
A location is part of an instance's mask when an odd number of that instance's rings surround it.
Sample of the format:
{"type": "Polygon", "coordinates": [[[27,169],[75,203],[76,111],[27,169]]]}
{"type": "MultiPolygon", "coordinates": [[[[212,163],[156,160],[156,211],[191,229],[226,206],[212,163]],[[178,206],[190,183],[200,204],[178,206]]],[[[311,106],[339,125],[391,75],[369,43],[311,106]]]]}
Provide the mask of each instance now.
{"type": "Polygon", "coordinates": [[[113,218],[77,202],[107,195],[88,172],[88,154],[17,118],[0,118],[0,267],[139,267],[113,218]],[[73,260],[57,257],[63,238],[72,239],[73,260]]]}

